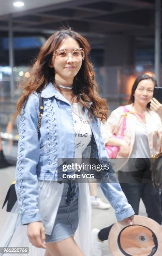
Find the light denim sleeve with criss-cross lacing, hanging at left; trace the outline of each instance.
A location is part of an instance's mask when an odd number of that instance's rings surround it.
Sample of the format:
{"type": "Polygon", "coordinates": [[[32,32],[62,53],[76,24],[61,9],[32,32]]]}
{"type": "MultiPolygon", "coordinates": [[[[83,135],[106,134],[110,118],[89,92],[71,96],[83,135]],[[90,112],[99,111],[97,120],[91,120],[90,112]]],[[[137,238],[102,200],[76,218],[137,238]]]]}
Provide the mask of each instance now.
{"type": "Polygon", "coordinates": [[[15,189],[20,206],[21,225],[42,220],[38,209],[36,174],[36,166],[40,158],[37,136],[38,111],[39,98],[32,94],[17,117],[19,143],[15,189]]]}

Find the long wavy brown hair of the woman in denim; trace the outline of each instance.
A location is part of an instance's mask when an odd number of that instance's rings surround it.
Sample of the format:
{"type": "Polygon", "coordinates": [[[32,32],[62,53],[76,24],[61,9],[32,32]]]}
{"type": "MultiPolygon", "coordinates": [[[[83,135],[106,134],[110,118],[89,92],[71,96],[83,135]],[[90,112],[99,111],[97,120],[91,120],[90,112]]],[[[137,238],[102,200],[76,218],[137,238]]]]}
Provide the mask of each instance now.
{"type": "MultiPolygon", "coordinates": [[[[17,101],[17,112],[14,118],[20,113],[25,101],[31,93],[41,91],[49,82],[55,84],[55,69],[49,67],[49,64],[52,60],[53,52],[58,49],[62,40],[68,37],[75,39],[85,51],[85,59],[82,61],[79,72],[74,77],[72,88],[73,97],[77,96],[77,100],[83,107],[87,107],[88,103],[92,102],[90,109],[93,115],[100,118],[102,122],[107,119],[108,109],[106,100],[98,95],[99,87],[95,81],[92,64],[88,59],[90,44],[83,36],[71,29],[57,31],[52,34],[41,47],[40,53],[29,71],[30,77],[20,84],[22,95],[17,101]]],[[[88,111],[91,115],[90,109],[88,108],[88,111]]]]}

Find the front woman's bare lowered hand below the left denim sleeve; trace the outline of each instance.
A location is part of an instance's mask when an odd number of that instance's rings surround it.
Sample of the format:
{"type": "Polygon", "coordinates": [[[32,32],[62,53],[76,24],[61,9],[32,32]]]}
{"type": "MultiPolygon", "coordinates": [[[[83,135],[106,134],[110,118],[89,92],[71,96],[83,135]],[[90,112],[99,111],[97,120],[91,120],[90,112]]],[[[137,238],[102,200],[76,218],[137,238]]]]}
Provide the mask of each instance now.
{"type": "Polygon", "coordinates": [[[45,228],[42,222],[32,222],[27,225],[27,236],[30,243],[38,248],[44,248],[45,246],[45,228]]]}

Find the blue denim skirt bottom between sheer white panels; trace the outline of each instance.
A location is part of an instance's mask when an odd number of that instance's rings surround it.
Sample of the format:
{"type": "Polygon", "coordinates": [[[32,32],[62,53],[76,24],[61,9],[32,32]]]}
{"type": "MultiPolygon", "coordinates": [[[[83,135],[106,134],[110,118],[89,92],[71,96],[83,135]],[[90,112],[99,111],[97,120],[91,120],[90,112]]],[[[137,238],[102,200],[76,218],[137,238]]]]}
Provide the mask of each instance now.
{"type": "Polygon", "coordinates": [[[64,184],[52,233],[51,235],[45,234],[46,243],[61,241],[75,234],[79,223],[78,194],[77,183],[64,184]]]}

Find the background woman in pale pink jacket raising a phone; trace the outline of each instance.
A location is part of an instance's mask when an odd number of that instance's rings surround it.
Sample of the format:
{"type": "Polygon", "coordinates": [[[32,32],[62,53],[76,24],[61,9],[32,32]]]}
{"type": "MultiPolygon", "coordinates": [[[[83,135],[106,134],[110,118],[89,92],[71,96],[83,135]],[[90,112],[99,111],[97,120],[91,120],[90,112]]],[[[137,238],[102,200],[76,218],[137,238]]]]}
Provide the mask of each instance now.
{"type": "MultiPolygon", "coordinates": [[[[112,111],[107,122],[101,125],[105,145],[119,146],[117,158],[125,158],[125,165],[118,173],[118,179],[128,202],[138,215],[142,199],[148,218],[162,223],[160,190],[152,185],[150,158],[162,151],[162,104],[153,97],[155,77],[148,74],[136,78],[127,113],[123,106],[112,111]],[[123,116],[126,118],[124,138],[120,136],[123,116]]],[[[92,251],[102,255],[102,241],[107,240],[112,225],[102,230],[92,230],[92,251]]]]}

